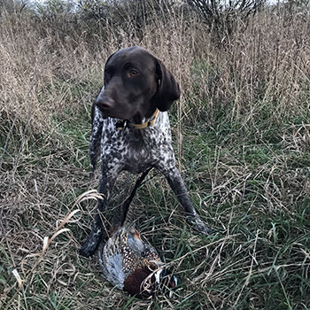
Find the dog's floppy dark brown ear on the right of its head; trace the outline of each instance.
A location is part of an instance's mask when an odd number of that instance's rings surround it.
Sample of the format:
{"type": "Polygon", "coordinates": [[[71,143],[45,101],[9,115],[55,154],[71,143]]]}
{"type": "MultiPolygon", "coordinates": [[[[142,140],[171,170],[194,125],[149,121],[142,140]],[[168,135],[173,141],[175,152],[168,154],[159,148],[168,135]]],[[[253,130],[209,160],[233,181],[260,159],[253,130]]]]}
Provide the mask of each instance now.
{"type": "Polygon", "coordinates": [[[180,87],[174,79],[174,75],[164,66],[164,64],[155,58],[156,78],[158,89],[153,97],[153,103],[159,108],[159,111],[167,111],[173,102],[180,98],[180,87]]]}

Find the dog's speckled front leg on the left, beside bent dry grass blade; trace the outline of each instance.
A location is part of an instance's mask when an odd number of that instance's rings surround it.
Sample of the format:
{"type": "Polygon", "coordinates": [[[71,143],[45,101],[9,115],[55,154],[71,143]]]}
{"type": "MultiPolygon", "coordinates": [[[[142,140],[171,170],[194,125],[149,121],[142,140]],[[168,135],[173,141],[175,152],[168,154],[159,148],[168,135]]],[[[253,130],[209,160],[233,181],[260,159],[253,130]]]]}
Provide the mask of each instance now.
{"type": "MultiPolygon", "coordinates": [[[[115,168],[115,167],[114,167],[115,168]]],[[[91,232],[87,240],[82,244],[80,254],[81,256],[89,257],[93,255],[102,239],[105,229],[105,210],[107,201],[112,190],[112,186],[120,173],[120,169],[110,169],[102,167],[102,176],[99,182],[98,192],[102,194],[102,198],[98,199],[97,214],[93,223],[91,232]]]]}

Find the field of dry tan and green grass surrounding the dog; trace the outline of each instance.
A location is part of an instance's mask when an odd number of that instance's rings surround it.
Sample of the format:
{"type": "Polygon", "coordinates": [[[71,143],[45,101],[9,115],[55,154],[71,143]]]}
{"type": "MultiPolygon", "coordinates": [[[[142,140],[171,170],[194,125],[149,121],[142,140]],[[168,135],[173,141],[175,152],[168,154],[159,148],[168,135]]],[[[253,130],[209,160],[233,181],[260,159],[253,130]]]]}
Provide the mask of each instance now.
{"type": "Polygon", "coordinates": [[[260,12],[221,44],[179,12],[143,37],[115,29],[91,42],[27,11],[2,12],[1,309],[310,308],[310,11],[296,10],[260,12]],[[178,277],[170,299],[128,297],[105,282],[96,257],[78,254],[99,176],[88,184],[90,107],[105,59],[135,44],[180,81],[174,150],[215,230],[191,231],[156,172],[138,190],[136,226],[178,277]]]}

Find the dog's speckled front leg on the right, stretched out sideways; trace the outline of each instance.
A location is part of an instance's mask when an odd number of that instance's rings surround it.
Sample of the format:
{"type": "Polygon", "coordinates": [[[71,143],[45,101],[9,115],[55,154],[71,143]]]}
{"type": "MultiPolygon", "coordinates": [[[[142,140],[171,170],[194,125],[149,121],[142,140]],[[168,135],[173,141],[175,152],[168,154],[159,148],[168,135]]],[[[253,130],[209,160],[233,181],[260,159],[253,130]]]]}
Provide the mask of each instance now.
{"type": "Polygon", "coordinates": [[[198,230],[203,235],[209,235],[213,232],[212,229],[208,228],[203,221],[201,221],[198,213],[196,213],[194,206],[190,201],[190,196],[185,188],[182,176],[179,170],[174,167],[168,170],[162,171],[167,177],[167,181],[174,194],[178,198],[180,204],[184,208],[186,221],[190,224],[193,229],[198,230]]]}

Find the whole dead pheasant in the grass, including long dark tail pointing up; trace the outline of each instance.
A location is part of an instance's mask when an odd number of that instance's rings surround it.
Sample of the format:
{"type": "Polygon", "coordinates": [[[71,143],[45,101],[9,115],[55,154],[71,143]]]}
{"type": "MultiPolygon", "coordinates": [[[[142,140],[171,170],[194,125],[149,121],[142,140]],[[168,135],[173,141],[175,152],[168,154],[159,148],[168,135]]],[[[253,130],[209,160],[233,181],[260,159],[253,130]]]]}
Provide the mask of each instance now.
{"type": "Polygon", "coordinates": [[[136,181],[120,213],[114,216],[110,237],[99,247],[98,260],[105,278],[118,289],[149,298],[159,291],[173,289],[177,279],[163,267],[154,247],[132,227],[133,208],[129,205],[142,180],[143,175],[136,181]]]}

